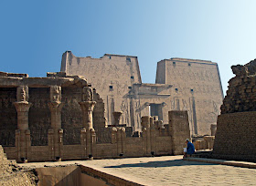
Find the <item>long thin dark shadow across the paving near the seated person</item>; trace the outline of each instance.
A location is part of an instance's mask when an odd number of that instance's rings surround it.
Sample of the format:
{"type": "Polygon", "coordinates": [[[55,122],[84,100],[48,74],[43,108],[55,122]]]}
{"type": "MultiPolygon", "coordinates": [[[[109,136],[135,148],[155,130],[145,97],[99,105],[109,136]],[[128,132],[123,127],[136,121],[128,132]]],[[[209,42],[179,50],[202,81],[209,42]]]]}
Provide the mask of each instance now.
{"type": "Polygon", "coordinates": [[[212,163],[187,161],[187,160],[164,160],[164,161],[149,161],[134,164],[122,164],[116,166],[107,166],[104,168],[127,168],[127,167],[173,167],[173,166],[191,166],[191,165],[217,165],[212,163]]]}

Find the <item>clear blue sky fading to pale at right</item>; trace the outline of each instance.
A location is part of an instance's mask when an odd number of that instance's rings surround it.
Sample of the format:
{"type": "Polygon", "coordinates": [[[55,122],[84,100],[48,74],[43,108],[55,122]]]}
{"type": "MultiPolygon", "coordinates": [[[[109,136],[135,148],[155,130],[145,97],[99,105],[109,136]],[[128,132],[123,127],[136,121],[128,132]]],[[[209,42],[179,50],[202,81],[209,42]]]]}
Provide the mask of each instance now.
{"type": "Polygon", "coordinates": [[[256,58],[254,0],[16,0],[0,2],[0,71],[45,77],[61,55],[137,56],[144,83],[156,63],[186,57],[219,63],[224,92],[230,66],[256,58]]]}

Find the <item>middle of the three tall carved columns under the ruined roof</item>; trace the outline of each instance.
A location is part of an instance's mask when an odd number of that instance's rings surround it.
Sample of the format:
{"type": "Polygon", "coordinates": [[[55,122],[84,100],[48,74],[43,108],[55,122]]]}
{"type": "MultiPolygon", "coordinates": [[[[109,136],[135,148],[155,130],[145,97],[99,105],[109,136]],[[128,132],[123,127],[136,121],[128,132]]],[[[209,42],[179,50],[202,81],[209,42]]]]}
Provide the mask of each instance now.
{"type": "MultiPolygon", "coordinates": [[[[61,109],[63,104],[61,103],[61,87],[50,87],[50,102],[48,108],[50,109],[51,129],[48,130],[48,146],[51,150],[51,159],[61,160],[60,146],[63,146],[62,140],[60,140],[59,131],[61,131],[61,109]]],[[[61,133],[61,132],[60,132],[61,133]]],[[[62,132],[63,133],[63,132],[62,132]]],[[[50,154],[50,153],[49,153],[50,154]]]]}

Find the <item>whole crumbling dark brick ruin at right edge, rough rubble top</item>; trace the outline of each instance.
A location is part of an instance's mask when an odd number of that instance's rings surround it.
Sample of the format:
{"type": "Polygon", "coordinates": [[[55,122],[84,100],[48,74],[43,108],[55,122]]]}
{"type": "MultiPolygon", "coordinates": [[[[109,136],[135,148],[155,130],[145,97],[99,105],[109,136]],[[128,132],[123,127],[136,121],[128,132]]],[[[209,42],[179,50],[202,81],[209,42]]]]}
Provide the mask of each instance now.
{"type": "Polygon", "coordinates": [[[229,80],[221,106],[213,155],[256,161],[256,59],[231,68],[236,77],[229,80]]]}

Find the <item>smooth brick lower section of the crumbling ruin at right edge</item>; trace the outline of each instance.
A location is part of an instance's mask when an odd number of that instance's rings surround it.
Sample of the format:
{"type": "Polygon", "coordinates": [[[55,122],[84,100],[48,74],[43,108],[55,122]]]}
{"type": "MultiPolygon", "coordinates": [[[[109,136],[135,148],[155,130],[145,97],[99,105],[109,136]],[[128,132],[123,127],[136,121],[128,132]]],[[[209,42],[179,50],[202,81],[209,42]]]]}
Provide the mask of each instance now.
{"type": "Polygon", "coordinates": [[[256,111],[221,114],[213,157],[256,161],[256,111]]]}

